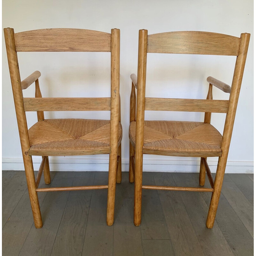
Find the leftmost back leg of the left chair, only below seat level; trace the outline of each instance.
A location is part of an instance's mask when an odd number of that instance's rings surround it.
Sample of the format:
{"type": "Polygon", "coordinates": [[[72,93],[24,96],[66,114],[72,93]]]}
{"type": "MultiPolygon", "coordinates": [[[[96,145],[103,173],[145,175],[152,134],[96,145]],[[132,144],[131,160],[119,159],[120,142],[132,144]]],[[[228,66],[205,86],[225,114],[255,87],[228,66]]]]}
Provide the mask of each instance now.
{"type": "Polygon", "coordinates": [[[42,228],[43,222],[40,212],[40,205],[38,201],[38,196],[36,192],[36,180],[33,168],[33,162],[31,156],[23,156],[26,179],[28,184],[28,194],[30,199],[30,204],[33,212],[33,218],[36,228],[42,228]]]}

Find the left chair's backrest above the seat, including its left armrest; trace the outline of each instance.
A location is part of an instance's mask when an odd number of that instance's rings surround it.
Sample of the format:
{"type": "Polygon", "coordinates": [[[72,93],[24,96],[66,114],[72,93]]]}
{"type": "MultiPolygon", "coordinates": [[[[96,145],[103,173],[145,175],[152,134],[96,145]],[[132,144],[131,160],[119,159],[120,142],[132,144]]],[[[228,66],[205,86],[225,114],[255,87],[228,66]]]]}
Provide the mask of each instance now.
{"type": "Polygon", "coordinates": [[[120,80],[120,30],[111,34],[73,28],[51,28],[14,33],[4,28],[7,59],[22,153],[27,155],[29,145],[25,111],[37,111],[38,120],[44,120],[43,111],[110,110],[110,147],[117,144],[119,122],[120,80]],[[42,98],[38,77],[34,72],[28,79],[20,80],[17,52],[111,52],[110,98],[42,98]],[[36,98],[23,98],[22,89],[36,82],[36,98]]]}

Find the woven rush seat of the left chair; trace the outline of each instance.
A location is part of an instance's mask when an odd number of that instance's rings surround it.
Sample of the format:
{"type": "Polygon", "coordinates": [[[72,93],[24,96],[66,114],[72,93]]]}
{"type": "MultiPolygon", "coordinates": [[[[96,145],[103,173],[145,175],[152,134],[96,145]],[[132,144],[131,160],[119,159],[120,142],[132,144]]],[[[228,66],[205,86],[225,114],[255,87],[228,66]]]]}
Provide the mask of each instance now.
{"type": "MultiPolygon", "coordinates": [[[[28,130],[29,155],[69,155],[79,151],[95,150],[95,154],[110,153],[110,120],[91,119],[45,119],[28,130]]],[[[118,145],[122,138],[119,123],[118,145]]]]}

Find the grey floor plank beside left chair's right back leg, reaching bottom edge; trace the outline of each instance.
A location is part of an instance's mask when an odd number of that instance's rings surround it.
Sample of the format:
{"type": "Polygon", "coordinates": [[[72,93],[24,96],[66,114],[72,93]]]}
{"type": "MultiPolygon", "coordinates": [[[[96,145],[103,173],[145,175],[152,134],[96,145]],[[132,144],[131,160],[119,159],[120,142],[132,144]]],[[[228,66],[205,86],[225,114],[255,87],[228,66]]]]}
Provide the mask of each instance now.
{"type": "MultiPolygon", "coordinates": [[[[94,185],[108,184],[108,172],[96,172],[94,185]]],[[[107,226],[107,189],[92,191],[82,255],[113,255],[113,226],[107,226]]]]}

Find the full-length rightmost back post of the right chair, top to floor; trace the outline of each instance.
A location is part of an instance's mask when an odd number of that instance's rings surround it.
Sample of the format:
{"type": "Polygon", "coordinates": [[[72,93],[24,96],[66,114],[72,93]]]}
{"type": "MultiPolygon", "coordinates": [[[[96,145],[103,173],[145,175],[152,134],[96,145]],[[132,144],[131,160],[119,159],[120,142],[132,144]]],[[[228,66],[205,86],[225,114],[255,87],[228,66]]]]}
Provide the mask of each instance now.
{"type": "Polygon", "coordinates": [[[207,221],[206,221],[207,228],[213,227],[218,204],[219,204],[220,192],[221,192],[225,168],[226,168],[227,159],[228,159],[228,151],[229,151],[233,126],[234,126],[234,121],[236,116],[237,102],[238,102],[240,88],[241,88],[243,74],[244,74],[244,66],[245,66],[249,41],[250,41],[250,34],[248,33],[241,34],[241,44],[239,48],[239,55],[236,58],[236,66],[235,66],[233,81],[231,85],[231,92],[229,96],[230,103],[229,103],[228,113],[225,120],[223,139],[221,143],[222,156],[219,158],[216,176],[214,180],[214,187],[213,187],[214,191],[212,193],[212,199],[211,199],[210,208],[209,208],[207,221]]]}

